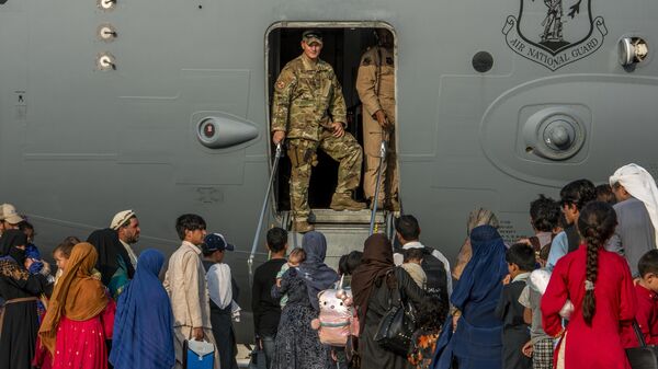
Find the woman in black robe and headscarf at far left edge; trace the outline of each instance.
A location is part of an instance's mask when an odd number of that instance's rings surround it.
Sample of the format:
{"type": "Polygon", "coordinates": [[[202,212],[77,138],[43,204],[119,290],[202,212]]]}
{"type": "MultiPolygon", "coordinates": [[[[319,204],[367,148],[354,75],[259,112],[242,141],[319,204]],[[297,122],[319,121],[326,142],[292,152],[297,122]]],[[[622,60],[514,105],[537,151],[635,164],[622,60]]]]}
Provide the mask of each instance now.
{"type": "Polygon", "coordinates": [[[38,332],[36,301],[50,289],[46,277],[25,269],[26,244],[27,237],[20,230],[8,230],[0,238],[0,296],[5,300],[0,313],[0,368],[32,368],[38,332]]]}

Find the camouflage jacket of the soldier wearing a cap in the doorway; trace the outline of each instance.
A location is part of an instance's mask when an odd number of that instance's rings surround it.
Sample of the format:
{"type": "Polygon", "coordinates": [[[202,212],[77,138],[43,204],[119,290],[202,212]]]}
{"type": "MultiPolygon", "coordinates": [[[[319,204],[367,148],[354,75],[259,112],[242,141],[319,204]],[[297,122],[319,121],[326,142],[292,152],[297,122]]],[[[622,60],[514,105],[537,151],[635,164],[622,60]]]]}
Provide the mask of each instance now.
{"type": "Polygon", "coordinates": [[[272,130],[287,138],[319,141],[331,122],[347,122],[345,100],[333,68],[320,59],[313,62],[304,54],[290,61],[274,84],[272,130]]]}

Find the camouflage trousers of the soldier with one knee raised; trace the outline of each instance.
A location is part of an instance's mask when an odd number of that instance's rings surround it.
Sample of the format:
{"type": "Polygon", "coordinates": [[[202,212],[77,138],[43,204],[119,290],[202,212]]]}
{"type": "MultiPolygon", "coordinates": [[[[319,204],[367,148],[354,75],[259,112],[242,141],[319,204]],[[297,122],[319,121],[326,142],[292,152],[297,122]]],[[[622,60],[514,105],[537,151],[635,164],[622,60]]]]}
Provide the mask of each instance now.
{"type": "Polygon", "coordinates": [[[295,219],[306,220],[310,214],[308,183],[310,171],[317,165],[318,149],[339,162],[336,193],[349,193],[359,186],[363,151],[352,135],[345,132],[342,137],[333,137],[329,130],[324,130],[319,141],[292,138],[287,146],[292,163],[291,207],[295,219]]]}

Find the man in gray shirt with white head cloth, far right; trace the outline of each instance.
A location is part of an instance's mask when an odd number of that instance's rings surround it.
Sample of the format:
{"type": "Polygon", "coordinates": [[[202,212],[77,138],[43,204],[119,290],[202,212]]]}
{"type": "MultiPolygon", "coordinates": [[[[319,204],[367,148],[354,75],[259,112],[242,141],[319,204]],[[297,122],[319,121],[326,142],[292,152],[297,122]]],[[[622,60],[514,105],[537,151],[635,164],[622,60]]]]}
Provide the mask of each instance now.
{"type": "Polygon", "coordinates": [[[614,205],[617,227],[606,249],[623,254],[633,277],[638,277],[637,262],[647,251],[656,249],[656,182],[642,166],[628,164],[610,177],[610,185],[619,201],[614,205]]]}

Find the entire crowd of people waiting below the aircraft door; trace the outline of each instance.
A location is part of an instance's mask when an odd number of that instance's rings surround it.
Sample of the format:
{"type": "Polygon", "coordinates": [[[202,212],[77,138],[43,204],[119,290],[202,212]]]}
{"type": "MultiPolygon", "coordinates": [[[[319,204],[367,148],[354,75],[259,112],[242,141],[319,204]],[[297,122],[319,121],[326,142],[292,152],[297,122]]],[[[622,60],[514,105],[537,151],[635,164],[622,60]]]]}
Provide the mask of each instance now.
{"type": "MultiPolygon", "coordinates": [[[[270,229],[252,285],[256,350],[269,369],[631,368],[626,349],[658,343],[654,178],[628,164],[529,210],[534,234],[512,244],[492,211],[472,211],[452,268],[411,215],[395,221],[398,245],[375,233],[338,270],[322,233],[288,251],[287,232],[270,229]]],[[[214,368],[237,368],[234,245],[202,217],[177,219],[162,278],[160,251],[133,250],[132,210],[87,241],[63,240],[56,273],[34,227],[10,204],[0,211],[1,368],[182,368],[191,339],[216,347],[214,368]]]]}

